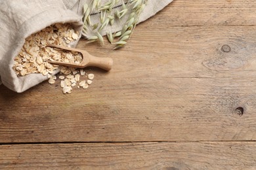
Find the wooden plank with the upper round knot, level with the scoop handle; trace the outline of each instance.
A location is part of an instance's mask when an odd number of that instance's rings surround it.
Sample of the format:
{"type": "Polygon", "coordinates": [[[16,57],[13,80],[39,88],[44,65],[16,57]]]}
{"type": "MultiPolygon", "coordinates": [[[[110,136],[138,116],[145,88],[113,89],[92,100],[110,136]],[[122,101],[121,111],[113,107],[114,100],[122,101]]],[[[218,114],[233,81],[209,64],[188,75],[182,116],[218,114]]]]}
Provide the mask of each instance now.
{"type": "Polygon", "coordinates": [[[150,77],[152,73],[179,78],[239,78],[245,73],[254,77],[256,27],[173,27],[168,23],[167,29],[161,26],[140,24],[130,44],[119,51],[85,41],[78,48],[114,58],[114,69],[107,78],[150,77]],[[230,51],[224,52],[224,46],[230,51]]]}

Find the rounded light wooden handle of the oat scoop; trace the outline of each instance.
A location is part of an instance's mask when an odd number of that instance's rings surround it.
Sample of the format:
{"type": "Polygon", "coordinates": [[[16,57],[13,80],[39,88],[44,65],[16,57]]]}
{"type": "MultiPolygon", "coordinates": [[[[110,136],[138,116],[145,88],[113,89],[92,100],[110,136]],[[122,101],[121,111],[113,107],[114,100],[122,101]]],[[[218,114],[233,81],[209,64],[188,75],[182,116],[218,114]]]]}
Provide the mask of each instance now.
{"type": "Polygon", "coordinates": [[[112,58],[98,58],[95,56],[89,56],[89,62],[87,66],[100,67],[106,71],[110,71],[112,69],[113,59],[112,58]]]}

